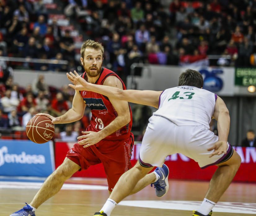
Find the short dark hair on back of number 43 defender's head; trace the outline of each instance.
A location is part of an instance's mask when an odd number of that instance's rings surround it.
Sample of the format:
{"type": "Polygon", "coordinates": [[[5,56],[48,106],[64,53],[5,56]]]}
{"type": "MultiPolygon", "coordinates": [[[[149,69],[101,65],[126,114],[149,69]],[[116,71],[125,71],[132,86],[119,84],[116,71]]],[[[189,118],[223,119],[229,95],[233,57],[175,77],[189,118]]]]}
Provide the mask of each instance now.
{"type": "Polygon", "coordinates": [[[182,85],[194,86],[201,89],[204,85],[204,79],[198,71],[187,69],[179,76],[179,86],[182,85]]]}

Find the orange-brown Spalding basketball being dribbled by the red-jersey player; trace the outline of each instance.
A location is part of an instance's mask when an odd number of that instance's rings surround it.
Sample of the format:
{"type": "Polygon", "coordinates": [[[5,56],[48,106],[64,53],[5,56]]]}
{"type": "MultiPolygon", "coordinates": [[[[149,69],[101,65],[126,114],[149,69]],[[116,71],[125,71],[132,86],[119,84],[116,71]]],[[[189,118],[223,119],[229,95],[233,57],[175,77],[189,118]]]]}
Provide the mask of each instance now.
{"type": "Polygon", "coordinates": [[[54,124],[51,123],[51,119],[46,116],[34,116],[27,123],[26,134],[34,143],[46,143],[51,140],[54,135],[54,124]]]}

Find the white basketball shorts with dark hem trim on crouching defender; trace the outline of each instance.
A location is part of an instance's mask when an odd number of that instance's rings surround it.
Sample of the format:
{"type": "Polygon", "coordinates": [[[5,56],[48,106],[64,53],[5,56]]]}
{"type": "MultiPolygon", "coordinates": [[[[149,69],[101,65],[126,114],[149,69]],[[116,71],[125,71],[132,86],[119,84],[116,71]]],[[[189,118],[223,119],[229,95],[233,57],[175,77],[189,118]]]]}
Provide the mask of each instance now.
{"type": "Polygon", "coordinates": [[[228,144],[227,154],[214,155],[207,151],[218,141],[218,136],[205,126],[178,126],[170,120],[153,115],[149,118],[139,151],[139,162],[143,167],[161,167],[166,156],[181,153],[195,160],[201,168],[219,164],[233,154],[228,144]]]}

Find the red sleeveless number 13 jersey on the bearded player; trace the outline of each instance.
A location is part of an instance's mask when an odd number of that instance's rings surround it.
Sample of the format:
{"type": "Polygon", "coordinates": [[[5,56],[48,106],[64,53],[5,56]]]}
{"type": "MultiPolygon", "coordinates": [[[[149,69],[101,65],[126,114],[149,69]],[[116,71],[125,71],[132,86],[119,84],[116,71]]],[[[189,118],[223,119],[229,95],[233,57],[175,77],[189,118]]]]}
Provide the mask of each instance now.
{"type": "MultiPolygon", "coordinates": [[[[125,90],[126,87],[121,80],[120,77],[117,76],[116,73],[113,71],[102,68],[100,72],[99,79],[95,82],[97,85],[103,85],[105,79],[109,76],[116,76],[122,83],[123,89],[125,90]]],[[[86,72],[84,72],[81,77],[86,79],[86,72]]],[[[102,130],[104,127],[106,127],[109,123],[111,123],[116,117],[117,117],[117,111],[111,104],[111,102],[108,100],[108,97],[98,94],[91,91],[80,91],[80,94],[86,104],[86,106],[90,107],[92,117],[90,120],[90,125],[86,128],[86,131],[95,131],[98,132],[102,130]]],[[[127,139],[130,137],[131,132],[131,126],[132,126],[132,113],[131,108],[130,109],[130,123],[128,123],[126,126],[120,128],[113,134],[107,136],[104,139],[107,140],[120,140],[120,139],[127,139]]]]}

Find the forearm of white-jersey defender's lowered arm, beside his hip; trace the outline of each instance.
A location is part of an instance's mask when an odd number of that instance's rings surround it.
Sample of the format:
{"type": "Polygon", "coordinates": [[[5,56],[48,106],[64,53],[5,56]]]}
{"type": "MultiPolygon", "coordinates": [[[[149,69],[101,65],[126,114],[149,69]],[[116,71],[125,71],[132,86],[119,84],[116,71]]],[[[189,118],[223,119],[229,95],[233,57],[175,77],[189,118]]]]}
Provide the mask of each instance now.
{"type": "Polygon", "coordinates": [[[230,127],[230,116],[228,111],[220,112],[218,115],[218,123],[217,123],[219,141],[227,141],[229,127],[230,127]]]}

